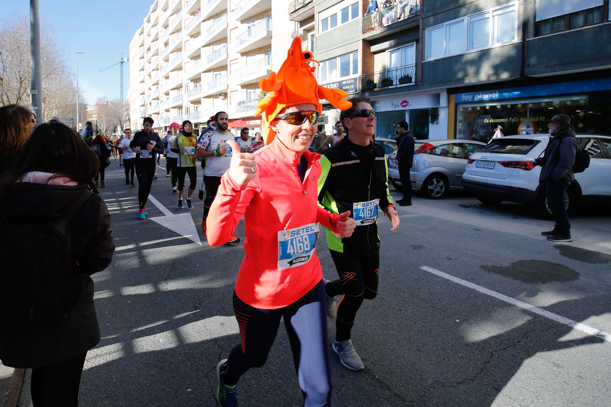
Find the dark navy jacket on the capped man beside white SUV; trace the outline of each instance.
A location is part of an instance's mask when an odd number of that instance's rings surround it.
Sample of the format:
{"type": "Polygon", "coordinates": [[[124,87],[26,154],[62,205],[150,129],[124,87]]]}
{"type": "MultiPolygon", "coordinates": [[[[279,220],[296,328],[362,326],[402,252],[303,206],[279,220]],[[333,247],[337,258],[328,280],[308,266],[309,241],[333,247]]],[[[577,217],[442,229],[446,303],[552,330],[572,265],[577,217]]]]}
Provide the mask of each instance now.
{"type": "Polygon", "coordinates": [[[539,182],[558,181],[564,179],[573,182],[573,164],[577,155],[577,140],[575,132],[571,129],[562,129],[554,134],[545,149],[543,156],[543,169],[539,175],[539,182]]]}

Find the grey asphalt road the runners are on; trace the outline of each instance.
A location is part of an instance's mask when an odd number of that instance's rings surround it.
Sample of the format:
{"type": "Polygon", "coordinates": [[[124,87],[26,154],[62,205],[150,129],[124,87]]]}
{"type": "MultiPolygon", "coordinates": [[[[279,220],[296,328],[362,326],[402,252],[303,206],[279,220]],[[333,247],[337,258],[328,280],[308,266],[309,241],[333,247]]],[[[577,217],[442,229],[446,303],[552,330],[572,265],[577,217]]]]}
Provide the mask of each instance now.
{"type": "MultiPolygon", "coordinates": [[[[208,247],[203,202],[175,209],[158,175],[152,195],[166,214],[191,214],[202,245],[151,220],[164,216],[152,204],[138,220],[137,187],[111,161],[100,190],[117,251],[93,278],[103,339],[87,355],[81,406],[213,406],[216,363],[239,342],[232,291],[243,248],[208,247]]],[[[379,294],[353,329],[365,370],[331,352],[334,405],[609,405],[611,336],[593,334],[611,333],[608,210],[582,211],[574,243],[562,245],[540,236],[552,225],[529,208],[486,207],[461,192],[416,194],[398,211],[395,234],[379,222],[379,294]]],[[[335,279],[321,236],[324,275],[335,279]]],[[[265,366],[241,378],[240,405],[302,405],[283,328],[265,366]]],[[[329,343],[334,333],[329,322],[329,343]]]]}

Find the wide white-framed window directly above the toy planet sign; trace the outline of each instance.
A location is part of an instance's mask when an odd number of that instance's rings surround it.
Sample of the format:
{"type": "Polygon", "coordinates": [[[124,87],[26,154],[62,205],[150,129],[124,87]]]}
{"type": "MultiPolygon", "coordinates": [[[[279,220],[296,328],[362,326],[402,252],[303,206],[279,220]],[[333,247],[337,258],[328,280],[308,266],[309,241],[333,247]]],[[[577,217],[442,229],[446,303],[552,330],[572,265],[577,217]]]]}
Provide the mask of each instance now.
{"type": "Polygon", "coordinates": [[[426,29],[426,59],[510,43],[518,38],[516,3],[426,29]]]}

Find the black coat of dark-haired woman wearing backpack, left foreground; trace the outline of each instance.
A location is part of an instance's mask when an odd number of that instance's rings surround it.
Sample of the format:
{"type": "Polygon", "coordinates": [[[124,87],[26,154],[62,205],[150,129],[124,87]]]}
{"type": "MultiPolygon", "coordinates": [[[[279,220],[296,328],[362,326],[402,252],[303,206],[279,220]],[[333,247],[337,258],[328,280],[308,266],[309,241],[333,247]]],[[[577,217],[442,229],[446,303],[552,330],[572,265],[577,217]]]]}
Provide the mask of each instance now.
{"type": "MultiPolygon", "coordinates": [[[[85,188],[84,185],[18,182],[6,192],[3,211],[24,217],[61,212],[85,188]]],[[[90,275],[111,264],[115,245],[110,225],[111,215],[106,204],[99,195],[91,196],[71,222],[73,250],[79,264],[73,269],[76,283],[73,308],[64,322],[43,334],[17,336],[10,326],[3,324],[0,330],[2,363],[20,368],[49,366],[82,355],[100,342],[90,275]]],[[[5,270],[19,270],[19,259],[20,256],[3,259],[5,270]]]]}

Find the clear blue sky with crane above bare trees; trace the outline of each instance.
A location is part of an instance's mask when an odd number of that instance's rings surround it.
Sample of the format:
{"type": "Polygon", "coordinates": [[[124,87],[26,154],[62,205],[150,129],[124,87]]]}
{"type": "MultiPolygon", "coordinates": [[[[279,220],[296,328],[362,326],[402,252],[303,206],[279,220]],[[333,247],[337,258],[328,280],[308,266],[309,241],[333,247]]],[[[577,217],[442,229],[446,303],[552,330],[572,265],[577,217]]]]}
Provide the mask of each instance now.
{"type": "MultiPolygon", "coordinates": [[[[136,29],[142,25],[153,0],[39,0],[40,16],[52,26],[59,52],[68,66],[76,71],[75,52],[79,55],[79,88],[88,104],[99,96],[109,100],[118,98],[119,66],[98,73],[115,62],[121,52],[127,57],[130,41],[136,29]]],[[[27,0],[2,1],[2,18],[15,15],[29,16],[27,0]]],[[[130,68],[123,64],[123,98],[127,99],[130,87],[130,68]]]]}

